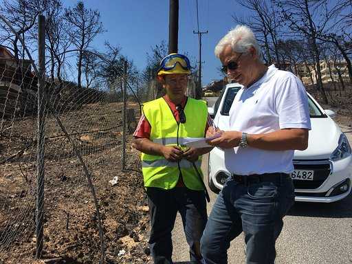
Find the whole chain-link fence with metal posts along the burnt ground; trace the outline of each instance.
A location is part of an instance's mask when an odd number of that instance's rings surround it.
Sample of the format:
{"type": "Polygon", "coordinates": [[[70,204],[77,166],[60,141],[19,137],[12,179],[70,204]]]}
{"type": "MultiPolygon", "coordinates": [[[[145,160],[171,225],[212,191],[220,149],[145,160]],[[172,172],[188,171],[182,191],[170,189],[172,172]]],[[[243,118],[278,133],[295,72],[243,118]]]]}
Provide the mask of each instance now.
{"type": "Polygon", "coordinates": [[[52,79],[27,55],[0,59],[0,263],[147,263],[131,139],[151,83],[131,83],[125,63],[109,84],[79,87],[75,70],[52,79]]]}

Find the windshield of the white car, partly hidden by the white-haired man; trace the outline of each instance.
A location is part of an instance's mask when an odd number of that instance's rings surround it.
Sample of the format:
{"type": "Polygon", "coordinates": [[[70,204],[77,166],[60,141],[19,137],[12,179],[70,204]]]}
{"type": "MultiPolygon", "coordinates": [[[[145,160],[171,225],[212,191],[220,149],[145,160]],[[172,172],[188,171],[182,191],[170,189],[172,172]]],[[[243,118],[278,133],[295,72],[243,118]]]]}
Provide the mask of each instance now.
{"type": "MultiPolygon", "coordinates": [[[[224,95],[221,95],[217,100],[217,102],[215,103],[214,113],[217,112],[217,108],[219,107],[221,97],[225,96],[225,99],[223,101],[223,107],[220,113],[221,115],[228,115],[232,102],[234,100],[234,96],[236,96],[237,91],[239,91],[239,89],[241,89],[241,87],[230,87],[224,95]]],[[[311,118],[325,118],[327,116],[324,113],[322,113],[322,111],[320,111],[316,103],[313,102],[313,100],[311,100],[310,96],[308,96],[308,104],[309,104],[309,115],[311,118]]]]}

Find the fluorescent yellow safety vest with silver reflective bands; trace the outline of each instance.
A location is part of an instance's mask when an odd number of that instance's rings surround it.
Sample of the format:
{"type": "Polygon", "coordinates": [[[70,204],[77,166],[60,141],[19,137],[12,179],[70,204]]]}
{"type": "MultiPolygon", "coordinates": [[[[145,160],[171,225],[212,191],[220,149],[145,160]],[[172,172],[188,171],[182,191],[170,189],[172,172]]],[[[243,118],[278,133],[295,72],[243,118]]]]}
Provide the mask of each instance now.
{"type": "MultiPolygon", "coordinates": [[[[184,113],[186,123],[177,124],[173,112],[164,100],[158,98],[151,102],[143,104],[143,113],[151,124],[151,141],[164,146],[180,146],[186,141],[199,137],[204,137],[206,122],[208,118],[208,108],[203,100],[188,98],[184,113]],[[178,137],[177,137],[177,126],[178,137]]],[[[179,162],[169,162],[164,156],[150,155],[142,153],[142,172],[144,177],[144,186],[158,187],[163,189],[174,188],[181,173],[184,184],[191,190],[203,190],[203,185],[193,167],[187,159],[181,159],[179,162]]],[[[201,177],[201,156],[195,162],[197,170],[201,177]]]]}

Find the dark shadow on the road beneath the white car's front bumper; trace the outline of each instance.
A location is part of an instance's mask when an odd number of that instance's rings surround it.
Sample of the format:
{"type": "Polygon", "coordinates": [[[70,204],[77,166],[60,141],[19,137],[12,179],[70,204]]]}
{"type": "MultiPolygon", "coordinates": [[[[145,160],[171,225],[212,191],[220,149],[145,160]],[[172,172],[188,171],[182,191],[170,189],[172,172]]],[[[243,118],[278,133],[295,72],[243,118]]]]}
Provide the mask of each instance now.
{"type": "Polygon", "coordinates": [[[352,193],[335,203],[298,202],[287,215],[298,217],[352,218],[352,193]]]}

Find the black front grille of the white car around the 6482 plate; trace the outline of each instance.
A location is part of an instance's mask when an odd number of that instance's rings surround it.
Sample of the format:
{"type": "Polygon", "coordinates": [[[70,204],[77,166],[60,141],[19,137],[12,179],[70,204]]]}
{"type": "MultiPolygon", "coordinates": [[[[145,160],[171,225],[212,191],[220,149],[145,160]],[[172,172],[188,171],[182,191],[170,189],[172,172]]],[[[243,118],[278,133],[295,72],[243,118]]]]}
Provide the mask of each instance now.
{"type": "Polygon", "coordinates": [[[303,181],[294,179],[294,187],[296,189],[316,189],[329,177],[331,173],[331,165],[328,160],[323,161],[294,161],[296,170],[314,170],[313,181],[303,181]]]}

